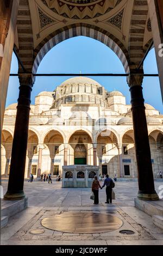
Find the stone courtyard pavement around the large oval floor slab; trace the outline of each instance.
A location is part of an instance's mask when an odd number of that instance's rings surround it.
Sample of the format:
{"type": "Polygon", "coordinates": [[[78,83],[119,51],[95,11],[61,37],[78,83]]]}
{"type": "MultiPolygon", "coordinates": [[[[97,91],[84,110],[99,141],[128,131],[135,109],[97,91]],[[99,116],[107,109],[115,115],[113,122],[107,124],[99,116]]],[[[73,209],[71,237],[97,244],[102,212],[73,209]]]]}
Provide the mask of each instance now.
{"type": "MultiPolygon", "coordinates": [[[[5,193],[7,181],[2,185],[5,193]]],[[[157,192],[160,185],[162,182],[155,182],[157,192]]],[[[137,190],[136,181],[117,181],[112,205],[105,204],[105,188],[99,190],[99,205],[93,205],[91,188],[61,188],[61,182],[25,181],[28,208],[9,218],[8,225],[1,230],[1,245],[163,245],[163,230],[152,223],[152,217],[134,207],[137,190]],[[110,214],[120,218],[123,225],[96,234],[64,233],[41,225],[43,218],[63,212],[110,214]],[[38,229],[42,234],[32,234],[38,229]],[[131,230],[134,234],[121,234],[120,230],[131,230]]]]}

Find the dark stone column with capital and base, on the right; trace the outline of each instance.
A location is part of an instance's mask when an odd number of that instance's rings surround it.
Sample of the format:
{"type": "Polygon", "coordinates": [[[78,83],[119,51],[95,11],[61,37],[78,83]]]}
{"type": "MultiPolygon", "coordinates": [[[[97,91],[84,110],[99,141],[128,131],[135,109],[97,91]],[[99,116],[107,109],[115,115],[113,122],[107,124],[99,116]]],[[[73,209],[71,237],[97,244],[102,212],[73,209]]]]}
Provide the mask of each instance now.
{"type": "Polygon", "coordinates": [[[137,197],[143,200],[159,200],[155,192],[151,151],[149,147],[147,120],[142,94],[143,75],[131,74],[128,78],[131,93],[131,111],[133,115],[133,128],[135,151],[138,171],[139,192],[137,197]]]}

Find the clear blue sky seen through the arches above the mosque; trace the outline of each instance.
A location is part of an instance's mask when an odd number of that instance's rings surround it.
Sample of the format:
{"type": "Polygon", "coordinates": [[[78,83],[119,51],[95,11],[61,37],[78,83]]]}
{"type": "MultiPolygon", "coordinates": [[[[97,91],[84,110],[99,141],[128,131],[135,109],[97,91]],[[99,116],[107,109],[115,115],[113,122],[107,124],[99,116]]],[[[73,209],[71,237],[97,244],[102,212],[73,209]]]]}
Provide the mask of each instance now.
{"type": "MultiPolygon", "coordinates": [[[[15,54],[12,56],[11,73],[17,73],[18,64],[15,54]]],[[[101,42],[78,36],[65,40],[55,46],[43,58],[37,73],[124,73],[123,65],[116,54],[101,42]]],[[[157,74],[154,49],[148,53],[144,63],[145,73],[157,74]]],[[[35,96],[43,90],[53,91],[56,86],[70,77],[36,77],[32,92],[32,104],[35,96]]],[[[102,84],[109,92],[119,90],[130,104],[130,92],[126,77],[91,77],[102,84]]],[[[17,102],[18,78],[10,77],[6,106],[17,102]]],[[[143,80],[145,102],[151,104],[161,113],[161,100],[158,77],[145,77],[143,80]]]]}

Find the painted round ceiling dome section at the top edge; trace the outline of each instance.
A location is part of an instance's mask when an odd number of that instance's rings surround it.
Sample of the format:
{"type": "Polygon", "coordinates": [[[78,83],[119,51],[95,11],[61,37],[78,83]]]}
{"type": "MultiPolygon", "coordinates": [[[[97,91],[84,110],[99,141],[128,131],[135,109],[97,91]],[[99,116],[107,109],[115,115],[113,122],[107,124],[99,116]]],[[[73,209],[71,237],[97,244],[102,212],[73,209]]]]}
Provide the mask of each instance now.
{"type": "Polygon", "coordinates": [[[114,9],[122,0],[42,0],[54,13],[67,19],[88,20],[114,9]]]}

